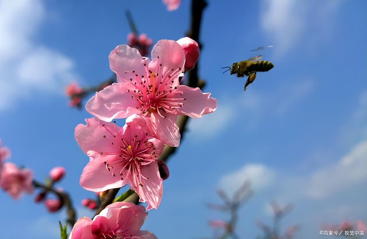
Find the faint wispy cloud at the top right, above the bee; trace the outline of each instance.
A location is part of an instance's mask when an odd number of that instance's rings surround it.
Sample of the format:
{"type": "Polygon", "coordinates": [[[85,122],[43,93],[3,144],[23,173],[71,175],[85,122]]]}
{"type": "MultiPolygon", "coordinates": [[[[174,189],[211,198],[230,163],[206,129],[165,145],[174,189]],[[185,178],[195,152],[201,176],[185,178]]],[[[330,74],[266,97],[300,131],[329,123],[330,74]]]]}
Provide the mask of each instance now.
{"type": "Polygon", "coordinates": [[[302,38],[307,39],[309,46],[324,40],[341,5],[339,1],[264,1],[262,4],[261,27],[279,57],[298,46],[302,38]]]}

